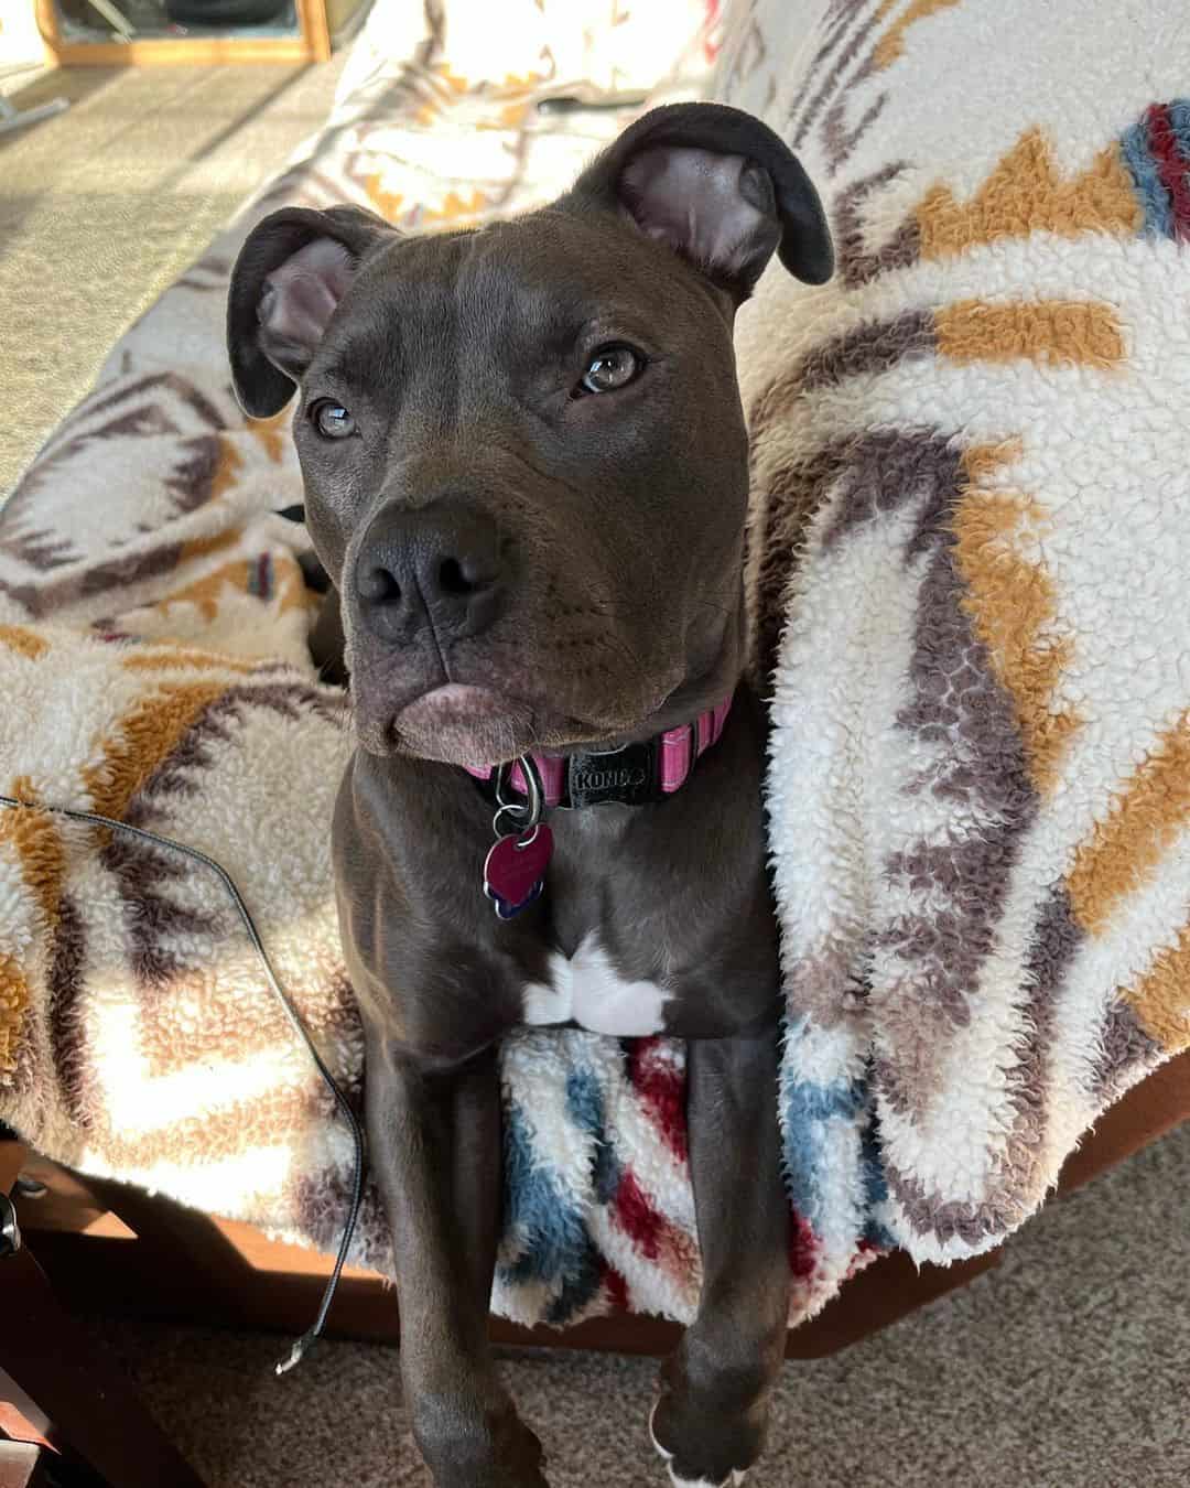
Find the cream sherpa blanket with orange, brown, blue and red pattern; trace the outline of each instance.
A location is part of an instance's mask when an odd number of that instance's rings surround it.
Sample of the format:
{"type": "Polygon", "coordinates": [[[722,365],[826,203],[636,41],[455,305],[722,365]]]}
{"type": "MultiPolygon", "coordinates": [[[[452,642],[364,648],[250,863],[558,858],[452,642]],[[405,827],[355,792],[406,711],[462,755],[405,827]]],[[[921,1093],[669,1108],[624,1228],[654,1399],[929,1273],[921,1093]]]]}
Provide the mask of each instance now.
{"type": "MultiPolygon", "coordinates": [[[[0,812],[0,1117],[335,1244],[350,1143],[226,896],[37,806],[225,863],[358,1091],[327,857],[351,741],[275,515],[300,500],[284,421],[228,384],[231,259],[281,202],[425,228],[546,199],[626,112],[544,95],[696,85],[717,52],[839,247],[818,292],[768,275],[739,330],[796,1321],[882,1248],[997,1244],[1190,1042],[1190,37],[1175,0],[666,0],[595,27],[522,0],[498,30],[452,0],[424,33],[409,9],[376,9],[309,158],[116,347],[0,518],[0,792],[28,804],[0,812]]],[[[689,1320],[680,1048],[534,1031],[503,1070],[494,1306],[689,1320]]],[[[388,1263],[372,1189],[356,1256],[388,1263]]]]}

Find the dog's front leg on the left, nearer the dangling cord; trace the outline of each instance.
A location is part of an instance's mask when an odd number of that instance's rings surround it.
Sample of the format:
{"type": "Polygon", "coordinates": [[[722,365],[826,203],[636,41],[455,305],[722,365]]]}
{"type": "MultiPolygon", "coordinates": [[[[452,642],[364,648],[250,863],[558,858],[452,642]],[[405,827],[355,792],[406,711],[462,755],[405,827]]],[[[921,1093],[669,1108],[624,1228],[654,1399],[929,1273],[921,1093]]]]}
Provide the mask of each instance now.
{"type": "Polygon", "coordinates": [[[540,1443],[488,1347],[501,1202],[495,1048],[442,1070],[369,1040],[366,1070],[414,1436],[439,1488],[544,1488],[540,1443]]]}

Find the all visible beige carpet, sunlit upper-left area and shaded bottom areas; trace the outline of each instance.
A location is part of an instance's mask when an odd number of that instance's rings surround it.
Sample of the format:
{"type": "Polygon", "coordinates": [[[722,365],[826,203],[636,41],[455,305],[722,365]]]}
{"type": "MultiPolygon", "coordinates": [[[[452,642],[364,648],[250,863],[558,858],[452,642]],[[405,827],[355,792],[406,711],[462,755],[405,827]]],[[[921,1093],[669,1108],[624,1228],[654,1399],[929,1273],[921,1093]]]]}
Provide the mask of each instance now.
{"type": "MultiPolygon", "coordinates": [[[[0,493],[107,347],[324,119],[338,64],[73,73],[62,118],[0,141],[0,493]]],[[[424,1484],[396,1359],[101,1320],[211,1488],[424,1484]]],[[[1190,1484],[1190,1126],[1019,1237],[998,1275],[837,1359],[787,1369],[750,1488],[1190,1484]]],[[[555,1488],[660,1484],[652,1362],[509,1366],[555,1488]]],[[[167,1488],[167,1485],[162,1485],[167,1488]]]]}

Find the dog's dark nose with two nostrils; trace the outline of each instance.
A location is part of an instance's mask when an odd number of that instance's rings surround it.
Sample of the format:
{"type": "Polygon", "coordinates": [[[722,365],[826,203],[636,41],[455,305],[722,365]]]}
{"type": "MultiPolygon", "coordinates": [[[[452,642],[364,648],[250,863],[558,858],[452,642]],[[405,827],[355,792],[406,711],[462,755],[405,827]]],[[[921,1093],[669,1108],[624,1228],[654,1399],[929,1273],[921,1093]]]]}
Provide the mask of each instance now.
{"type": "Polygon", "coordinates": [[[461,507],[382,510],[356,564],[363,620],[388,641],[427,623],[440,641],[476,635],[500,613],[506,585],[495,522],[461,507]]]}

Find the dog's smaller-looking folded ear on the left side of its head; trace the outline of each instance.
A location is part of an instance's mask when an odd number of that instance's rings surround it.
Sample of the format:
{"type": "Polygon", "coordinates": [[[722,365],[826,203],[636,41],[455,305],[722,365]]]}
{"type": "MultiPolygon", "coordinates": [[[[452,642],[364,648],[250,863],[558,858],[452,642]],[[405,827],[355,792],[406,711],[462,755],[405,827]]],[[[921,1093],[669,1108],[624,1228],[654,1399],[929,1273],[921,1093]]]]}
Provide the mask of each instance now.
{"type": "Polygon", "coordinates": [[[286,406],[363,259],[397,232],[361,207],[283,207],[248,234],[228,295],[235,393],[251,418],[286,406]]]}

